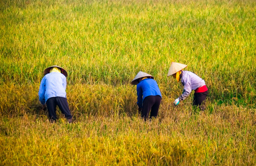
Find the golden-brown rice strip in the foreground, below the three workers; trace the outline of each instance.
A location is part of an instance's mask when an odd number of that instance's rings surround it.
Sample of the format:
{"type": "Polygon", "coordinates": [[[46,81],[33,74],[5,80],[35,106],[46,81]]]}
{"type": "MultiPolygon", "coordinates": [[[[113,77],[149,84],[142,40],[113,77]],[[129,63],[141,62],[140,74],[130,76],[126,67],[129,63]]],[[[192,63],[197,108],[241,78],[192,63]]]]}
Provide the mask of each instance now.
{"type": "MultiPolygon", "coordinates": [[[[255,114],[216,107],[213,114],[177,109],[144,122],[137,116],[1,118],[6,165],[254,165],[255,114]]],[[[163,114],[163,113],[161,113],[163,114]]]]}

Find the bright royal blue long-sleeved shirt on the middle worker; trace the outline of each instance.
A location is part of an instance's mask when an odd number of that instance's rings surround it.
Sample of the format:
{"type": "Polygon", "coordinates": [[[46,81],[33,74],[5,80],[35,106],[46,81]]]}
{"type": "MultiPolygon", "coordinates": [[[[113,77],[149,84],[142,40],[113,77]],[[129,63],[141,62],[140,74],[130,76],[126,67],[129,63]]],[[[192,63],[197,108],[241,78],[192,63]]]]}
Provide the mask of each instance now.
{"type": "Polygon", "coordinates": [[[153,79],[144,79],[137,84],[137,104],[142,108],[142,103],[146,96],[161,96],[158,84],[153,79]]]}

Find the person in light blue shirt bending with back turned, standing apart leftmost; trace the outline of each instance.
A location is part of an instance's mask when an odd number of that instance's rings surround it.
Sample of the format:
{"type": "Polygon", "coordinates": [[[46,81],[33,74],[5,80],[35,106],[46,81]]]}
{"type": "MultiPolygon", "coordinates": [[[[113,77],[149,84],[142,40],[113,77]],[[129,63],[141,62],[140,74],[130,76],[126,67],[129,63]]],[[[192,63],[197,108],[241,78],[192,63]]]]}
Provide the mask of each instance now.
{"type": "Polygon", "coordinates": [[[50,122],[55,122],[57,119],[56,105],[68,119],[68,122],[73,122],[66,97],[67,75],[67,71],[56,65],[44,70],[38,95],[41,104],[47,105],[50,122]]]}

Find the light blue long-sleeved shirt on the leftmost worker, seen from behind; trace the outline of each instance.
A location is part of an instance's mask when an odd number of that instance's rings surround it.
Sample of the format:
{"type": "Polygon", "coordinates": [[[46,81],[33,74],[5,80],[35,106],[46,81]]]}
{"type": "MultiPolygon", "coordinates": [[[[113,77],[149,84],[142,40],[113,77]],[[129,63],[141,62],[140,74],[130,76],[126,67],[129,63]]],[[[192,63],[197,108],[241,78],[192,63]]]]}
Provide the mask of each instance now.
{"type": "Polygon", "coordinates": [[[67,80],[64,74],[49,73],[41,80],[38,96],[41,104],[46,104],[47,99],[52,97],[66,98],[67,80]]]}

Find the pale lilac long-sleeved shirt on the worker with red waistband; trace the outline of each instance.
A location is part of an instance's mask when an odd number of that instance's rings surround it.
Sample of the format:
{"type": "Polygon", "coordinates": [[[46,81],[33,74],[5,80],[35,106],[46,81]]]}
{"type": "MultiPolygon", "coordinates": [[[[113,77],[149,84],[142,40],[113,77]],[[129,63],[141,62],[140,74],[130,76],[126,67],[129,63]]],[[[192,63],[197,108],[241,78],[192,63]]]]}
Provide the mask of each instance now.
{"type": "Polygon", "coordinates": [[[192,90],[205,85],[204,80],[191,71],[182,71],[181,83],[184,86],[183,93],[179,96],[181,101],[188,97],[192,90]]]}

